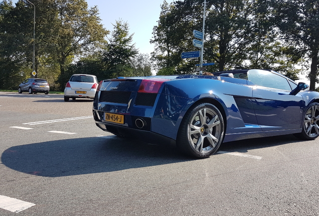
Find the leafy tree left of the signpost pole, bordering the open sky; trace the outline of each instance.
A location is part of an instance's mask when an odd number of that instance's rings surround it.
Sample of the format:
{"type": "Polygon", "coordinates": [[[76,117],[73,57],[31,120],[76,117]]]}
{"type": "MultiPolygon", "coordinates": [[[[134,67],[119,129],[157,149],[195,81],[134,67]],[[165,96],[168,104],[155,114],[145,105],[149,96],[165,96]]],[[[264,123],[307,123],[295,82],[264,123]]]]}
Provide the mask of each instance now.
{"type": "MultiPolygon", "coordinates": [[[[164,0],[158,25],[153,27],[150,43],[154,44],[152,59],[164,74],[190,73],[198,59],[181,59],[183,51],[192,51],[193,29],[201,29],[203,15],[198,0],[164,0]]],[[[159,72],[158,74],[162,74],[159,72]]]]}

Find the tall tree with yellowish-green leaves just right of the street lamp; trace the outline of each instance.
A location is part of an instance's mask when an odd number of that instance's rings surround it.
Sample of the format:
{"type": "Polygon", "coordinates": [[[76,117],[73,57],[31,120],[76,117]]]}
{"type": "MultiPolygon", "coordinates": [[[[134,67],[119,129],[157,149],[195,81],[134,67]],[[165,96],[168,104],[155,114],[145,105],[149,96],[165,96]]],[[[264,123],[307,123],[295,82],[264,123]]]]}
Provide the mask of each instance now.
{"type": "Polygon", "coordinates": [[[88,9],[85,0],[57,0],[58,18],[51,42],[54,58],[60,65],[61,87],[64,86],[65,68],[75,56],[94,50],[103,44],[108,33],[100,23],[97,7],[88,9]]]}

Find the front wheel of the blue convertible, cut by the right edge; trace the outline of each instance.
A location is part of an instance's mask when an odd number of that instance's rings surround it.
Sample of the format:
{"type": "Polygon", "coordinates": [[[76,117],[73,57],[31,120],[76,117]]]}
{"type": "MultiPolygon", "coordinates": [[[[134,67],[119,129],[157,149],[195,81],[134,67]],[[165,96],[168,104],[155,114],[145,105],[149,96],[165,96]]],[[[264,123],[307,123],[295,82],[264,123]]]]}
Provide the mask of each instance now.
{"type": "Polygon", "coordinates": [[[319,136],[319,103],[313,102],[309,105],[302,124],[301,133],[294,134],[298,138],[312,140],[319,136]]]}

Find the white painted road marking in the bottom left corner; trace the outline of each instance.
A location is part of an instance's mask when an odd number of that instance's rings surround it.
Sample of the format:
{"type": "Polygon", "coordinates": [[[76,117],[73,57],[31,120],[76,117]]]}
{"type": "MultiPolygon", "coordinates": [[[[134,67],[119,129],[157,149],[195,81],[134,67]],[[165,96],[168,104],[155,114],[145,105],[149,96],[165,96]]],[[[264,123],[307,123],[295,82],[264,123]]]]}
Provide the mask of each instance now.
{"type": "Polygon", "coordinates": [[[0,208],[18,213],[36,204],[22,201],[20,199],[11,198],[9,196],[0,195],[0,208]]]}

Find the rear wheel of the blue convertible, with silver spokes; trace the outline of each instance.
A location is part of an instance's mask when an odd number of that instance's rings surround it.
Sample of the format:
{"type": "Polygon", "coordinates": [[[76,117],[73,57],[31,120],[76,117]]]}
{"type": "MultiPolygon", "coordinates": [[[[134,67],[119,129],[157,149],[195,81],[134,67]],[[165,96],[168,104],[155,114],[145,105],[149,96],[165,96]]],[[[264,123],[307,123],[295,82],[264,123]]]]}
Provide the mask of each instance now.
{"type": "Polygon", "coordinates": [[[209,157],[219,148],[224,132],[224,119],[218,108],[211,103],[201,103],[185,114],[177,146],[189,155],[209,157]]]}

